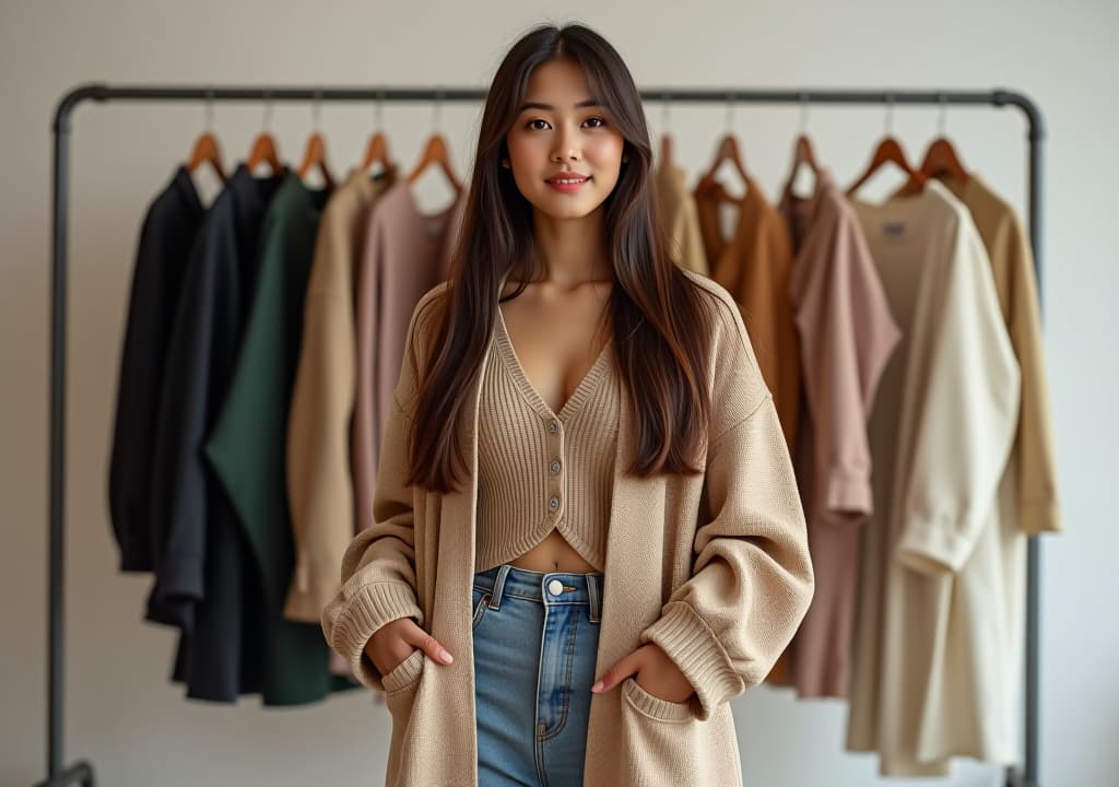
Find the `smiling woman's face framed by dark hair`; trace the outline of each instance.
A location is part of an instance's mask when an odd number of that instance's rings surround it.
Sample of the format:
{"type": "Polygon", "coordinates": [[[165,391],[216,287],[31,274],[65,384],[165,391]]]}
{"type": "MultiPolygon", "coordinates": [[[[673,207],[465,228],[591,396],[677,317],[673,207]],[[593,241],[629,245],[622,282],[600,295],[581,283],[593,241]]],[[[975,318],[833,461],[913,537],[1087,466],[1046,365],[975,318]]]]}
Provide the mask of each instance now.
{"type": "Polygon", "coordinates": [[[624,139],[596,101],[576,64],[551,60],[529,77],[506,135],[517,188],[553,218],[590,215],[618,182],[624,139]]]}

